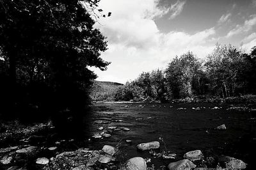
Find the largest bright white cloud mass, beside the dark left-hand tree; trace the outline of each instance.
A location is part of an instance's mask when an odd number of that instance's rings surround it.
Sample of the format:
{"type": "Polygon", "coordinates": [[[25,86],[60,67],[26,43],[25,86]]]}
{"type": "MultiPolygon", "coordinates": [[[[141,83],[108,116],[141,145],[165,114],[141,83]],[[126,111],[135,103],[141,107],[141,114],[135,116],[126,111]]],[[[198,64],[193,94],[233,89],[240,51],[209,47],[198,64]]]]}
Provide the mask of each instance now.
{"type": "MultiPolygon", "coordinates": [[[[103,26],[97,26],[103,35],[108,36],[109,49],[102,57],[112,63],[105,72],[95,70],[98,80],[125,83],[136,79],[141,72],[166,68],[170,59],[188,50],[198,57],[211,52],[214,45],[208,40],[215,34],[214,28],[194,34],[182,31],[161,33],[154,17],[165,12],[158,3],[154,0],[100,1],[100,8],[112,12],[111,17],[100,19],[103,26]]],[[[170,8],[174,9],[173,5],[170,8]]],[[[175,8],[180,10],[180,7],[175,8]]]]}

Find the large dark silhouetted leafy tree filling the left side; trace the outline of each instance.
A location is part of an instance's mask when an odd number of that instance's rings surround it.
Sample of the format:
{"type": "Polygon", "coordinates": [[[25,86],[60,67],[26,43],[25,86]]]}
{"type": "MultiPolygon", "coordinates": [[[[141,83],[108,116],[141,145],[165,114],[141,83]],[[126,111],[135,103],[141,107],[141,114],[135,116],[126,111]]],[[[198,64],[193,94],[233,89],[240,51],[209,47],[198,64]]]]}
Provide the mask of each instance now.
{"type": "MultiPolygon", "coordinates": [[[[83,109],[96,78],[87,67],[105,70],[109,63],[100,58],[107,49],[105,38],[81,2],[1,0],[0,47],[13,105],[29,100],[56,111],[83,109]]],[[[93,9],[98,2],[83,1],[93,9]]]]}

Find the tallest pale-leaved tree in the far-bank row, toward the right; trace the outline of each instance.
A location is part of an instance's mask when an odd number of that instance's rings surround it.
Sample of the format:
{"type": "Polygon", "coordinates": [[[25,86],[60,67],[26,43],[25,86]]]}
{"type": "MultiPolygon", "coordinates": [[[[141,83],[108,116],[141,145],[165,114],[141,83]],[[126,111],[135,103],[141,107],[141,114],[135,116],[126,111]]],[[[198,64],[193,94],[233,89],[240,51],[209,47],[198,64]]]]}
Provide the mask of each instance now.
{"type": "Polygon", "coordinates": [[[211,80],[211,90],[223,98],[236,94],[237,75],[243,63],[243,52],[231,45],[216,44],[205,66],[211,80]]]}

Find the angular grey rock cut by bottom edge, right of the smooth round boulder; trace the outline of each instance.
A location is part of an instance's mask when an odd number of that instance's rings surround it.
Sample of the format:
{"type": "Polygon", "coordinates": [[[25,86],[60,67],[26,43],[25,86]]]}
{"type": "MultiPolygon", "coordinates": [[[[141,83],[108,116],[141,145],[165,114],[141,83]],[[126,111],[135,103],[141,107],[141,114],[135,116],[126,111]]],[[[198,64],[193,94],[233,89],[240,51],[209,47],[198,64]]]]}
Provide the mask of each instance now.
{"type": "Polygon", "coordinates": [[[182,159],[177,162],[172,162],[168,165],[169,170],[190,170],[195,167],[196,165],[188,159],[182,159]]]}

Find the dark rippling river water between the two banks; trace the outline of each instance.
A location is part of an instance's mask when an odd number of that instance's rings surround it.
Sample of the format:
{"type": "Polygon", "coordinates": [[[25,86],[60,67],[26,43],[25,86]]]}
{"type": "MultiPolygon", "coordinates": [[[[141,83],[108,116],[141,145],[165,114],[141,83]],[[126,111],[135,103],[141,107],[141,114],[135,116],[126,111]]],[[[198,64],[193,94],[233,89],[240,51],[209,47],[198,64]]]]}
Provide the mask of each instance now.
{"type": "Polygon", "coordinates": [[[227,111],[227,108],[228,105],[218,104],[95,104],[88,116],[91,128],[86,130],[90,135],[102,132],[99,127],[130,130],[113,131],[111,137],[91,139],[88,147],[98,150],[104,144],[118,145],[125,159],[151,158],[150,164],[157,168],[182,159],[187,151],[202,150],[205,157],[223,154],[243,160],[248,169],[256,169],[253,165],[256,112],[227,111]],[[220,109],[212,109],[214,107],[220,109]],[[214,130],[222,124],[227,130],[214,130]],[[125,143],[125,139],[131,139],[132,143],[125,143]],[[137,144],[150,141],[159,141],[159,151],[172,151],[178,155],[177,159],[154,158],[148,151],[136,149],[137,144]]]}

